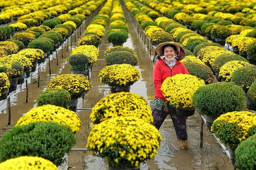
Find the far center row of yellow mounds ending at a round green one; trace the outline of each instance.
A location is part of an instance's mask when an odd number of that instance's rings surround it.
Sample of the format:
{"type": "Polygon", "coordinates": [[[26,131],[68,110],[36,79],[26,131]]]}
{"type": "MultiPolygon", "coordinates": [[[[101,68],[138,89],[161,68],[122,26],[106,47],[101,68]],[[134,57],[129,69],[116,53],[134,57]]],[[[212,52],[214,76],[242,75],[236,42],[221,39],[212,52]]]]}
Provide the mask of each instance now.
{"type": "Polygon", "coordinates": [[[110,24],[106,33],[107,40],[113,46],[123,46],[128,39],[128,27],[124,18],[124,11],[118,0],[114,0],[111,11],[110,24]]]}

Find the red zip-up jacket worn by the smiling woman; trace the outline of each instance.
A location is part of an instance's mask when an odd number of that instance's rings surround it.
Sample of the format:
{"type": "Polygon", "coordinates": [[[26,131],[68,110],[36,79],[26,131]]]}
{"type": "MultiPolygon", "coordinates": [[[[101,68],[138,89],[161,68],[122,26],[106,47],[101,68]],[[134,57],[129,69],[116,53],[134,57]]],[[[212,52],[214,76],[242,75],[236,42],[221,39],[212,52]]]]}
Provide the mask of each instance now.
{"type": "Polygon", "coordinates": [[[172,69],[165,64],[165,61],[163,59],[158,60],[153,69],[153,81],[155,86],[155,97],[159,99],[165,99],[163,96],[163,92],[161,89],[162,83],[167,77],[172,77],[175,74],[189,74],[188,70],[185,68],[183,63],[180,63],[179,61],[176,61],[175,66],[172,67],[172,69]]]}

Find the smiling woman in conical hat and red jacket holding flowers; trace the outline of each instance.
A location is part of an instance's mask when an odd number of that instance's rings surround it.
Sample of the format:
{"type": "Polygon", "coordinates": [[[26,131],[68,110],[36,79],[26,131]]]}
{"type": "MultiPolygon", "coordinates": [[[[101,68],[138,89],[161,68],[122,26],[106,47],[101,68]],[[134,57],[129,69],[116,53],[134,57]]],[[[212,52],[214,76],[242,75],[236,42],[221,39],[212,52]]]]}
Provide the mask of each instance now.
{"type": "Polygon", "coordinates": [[[178,138],[180,149],[188,148],[188,135],[186,130],[186,117],[177,115],[173,107],[160,90],[162,83],[167,77],[175,74],[189,74],[185,66],[179,62],[184,58],[185,51],[179,43],[164,42],[159,44],[155,50],[158,61],[153,69],[153,81],[155,86],[155,99],[152,101],[153,125],[159,130],[167,115],[170,115],[178,138]]]}

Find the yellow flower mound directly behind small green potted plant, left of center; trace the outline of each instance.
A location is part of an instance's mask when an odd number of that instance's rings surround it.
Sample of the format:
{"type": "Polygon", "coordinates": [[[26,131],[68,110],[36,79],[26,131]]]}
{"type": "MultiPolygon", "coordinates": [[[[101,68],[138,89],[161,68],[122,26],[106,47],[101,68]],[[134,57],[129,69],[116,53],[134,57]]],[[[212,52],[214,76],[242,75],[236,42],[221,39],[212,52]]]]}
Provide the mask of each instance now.
{"type": "Polygon", "coordinates": [[[87,55],[89,57],[89,63],[93,64],[97,61],[100,51],[93,45],[80,45],[71,52],[71,55],[77,53],[87,55]]]}

